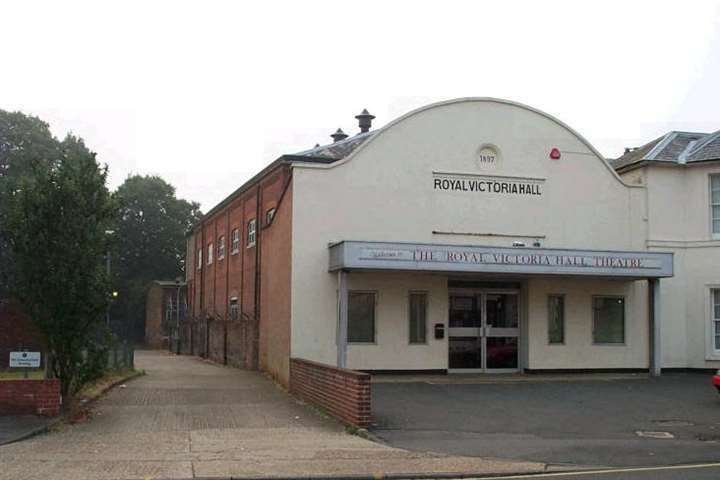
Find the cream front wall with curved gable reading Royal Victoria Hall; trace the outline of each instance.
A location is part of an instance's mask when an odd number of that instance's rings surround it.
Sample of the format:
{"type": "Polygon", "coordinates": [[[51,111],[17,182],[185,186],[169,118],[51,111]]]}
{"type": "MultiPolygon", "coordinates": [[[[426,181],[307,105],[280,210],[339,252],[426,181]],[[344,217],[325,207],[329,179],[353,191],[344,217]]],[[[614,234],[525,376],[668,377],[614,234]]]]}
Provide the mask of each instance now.
{"type": "MultiPolygon", "coordinates": [[[[432,105],[390,123],[343,161],[324,166],[297,164],[293,168],[291,354],[309,360],[329,364],[336,361],[337,275],[327,271],[328,245],[332,242],[405,241],[507,247],[516,240],[530,246],[531,240],[523,237],[529,235],[540,238],[542,246],[548,248],[645,247],[644,188],[625,185],[597,152],[568,127],[510,102],[464,99],[432,105]],[[500,160],[494,167],[487,167],[478,159],[485,144],[494,145],[499,152],[500,160]],[[550,159],[552,148],[560,149],[562,158],[550,159]],[[539,178],[543,179],[542,195],[439,191],[433,188],[433,172],[539,178]]],[[[403,285],[397,280],[402,275],[382,274],[364,280],[355,277],[350,273],[350,288],[355,288],[353,281],[362,281],[364,288],[377,290],[381,287],[373,284],[382,284],[385,285],[382,295],[396,298],[410,286],[409,282],[403,285]],[[383,283],[388,278],[396,282],[383,283]]],[[[439,287],[435,283],[430,287],[434,299],[439,287]]],[[[596,292],[588,292],[593,293],[596,292]]],[[[440,308],[443,301],[447,302],[446,295],[431,301],[431,308],[440,308]]],[[[647,299],[633,301],[644,304],[647,299]]],[[[388,303],[382,308],[398,313],[403,305],[388,303]]],[[[633,305],[628,323],[645,324],[646,316],[634,318],[636,309],[633,305]]],[[[388,313],[387,318],[379,321],[400,322],[396,318],[405,317],[388,313]]],[[[401,352],[383,352],[388,358],[368,353],[407,347],[405,328],[399,330],[397,337],[380,331],[378,334],[382,343],[377,347],[349,348],[350,368],[425,369],[438,368],[436,365],[447,362],[447,349],[441,358],[439,344],[426,349],[427,356],[417,353],[422,350],[418,348],[410,355],[412,360],[401,352]],[[390,363],[403,366],[393,367],[390,363]]],[[[543,333],[542,338],[546,336],[543,333]]],[[[596,364],[588,359],[585,349],[567,348],[562,368],[572,368],[568,365],[573,362],[581,362],[587,368],[606,368],[610,364],[636,367],[640,358],[647,357],[647,348],[639,339],[634,336],[632,339],[628,349],[637,349],[632,355],[626,355],[619,347],[608,347],[612,350],[598,353],[596,364]],[[621,360],[612,359],[612,352],[617,352],[621,360]]],[[[541,362],[534,362],[531,350],[530,365],[549,364],[549,355],[537,352],[541,362]]]]}

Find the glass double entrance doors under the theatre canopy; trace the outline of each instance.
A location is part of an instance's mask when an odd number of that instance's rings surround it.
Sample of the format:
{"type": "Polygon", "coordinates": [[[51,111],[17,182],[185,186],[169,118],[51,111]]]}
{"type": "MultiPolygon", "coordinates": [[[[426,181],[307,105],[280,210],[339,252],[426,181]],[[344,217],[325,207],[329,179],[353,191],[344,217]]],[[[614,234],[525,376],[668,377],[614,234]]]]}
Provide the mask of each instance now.
{"type": "Polygon", "coordinates": [[[519,319],[516,291],[451,290],[450,370],[517,371],[519,319]]]}

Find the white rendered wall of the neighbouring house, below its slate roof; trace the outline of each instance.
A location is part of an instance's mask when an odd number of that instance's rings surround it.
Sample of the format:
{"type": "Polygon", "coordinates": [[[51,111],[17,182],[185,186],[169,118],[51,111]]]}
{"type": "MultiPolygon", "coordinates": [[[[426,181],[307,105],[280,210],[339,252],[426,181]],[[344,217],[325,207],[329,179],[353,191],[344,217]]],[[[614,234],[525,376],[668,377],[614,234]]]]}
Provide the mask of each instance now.
{"type": "Polygon", "coordinates": [[[664,368],[720,368],[710,323],[710,288],[720,286],[720,240],[710,228],[713,173],[720,166],[653,165],[623,174],[627,182],[645,179],[648,248],[675,254],[675,276],[661,280],[664,368]]]}

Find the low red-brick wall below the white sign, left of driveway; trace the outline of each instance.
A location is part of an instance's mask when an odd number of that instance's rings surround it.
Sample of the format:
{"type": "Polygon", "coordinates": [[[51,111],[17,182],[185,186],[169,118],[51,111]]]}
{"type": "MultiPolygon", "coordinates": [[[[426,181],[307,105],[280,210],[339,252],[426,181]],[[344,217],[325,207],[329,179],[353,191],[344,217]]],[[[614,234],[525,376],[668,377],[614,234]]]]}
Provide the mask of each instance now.
{"type": "Polygon", "coordinates": [[[0,381],[0,415],[60,415],[60,380],[0,381]]]}

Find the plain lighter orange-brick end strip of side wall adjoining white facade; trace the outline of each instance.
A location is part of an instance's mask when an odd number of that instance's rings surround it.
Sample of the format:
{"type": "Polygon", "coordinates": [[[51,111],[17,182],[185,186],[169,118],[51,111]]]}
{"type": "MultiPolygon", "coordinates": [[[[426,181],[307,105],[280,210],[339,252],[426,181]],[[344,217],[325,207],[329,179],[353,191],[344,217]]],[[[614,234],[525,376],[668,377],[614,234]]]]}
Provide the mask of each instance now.
{"type": "Polygon", "coordinates": [[[292,185],[277,206],[261,246],[260,368],[285,387],[290,382],[292,185]]]}

